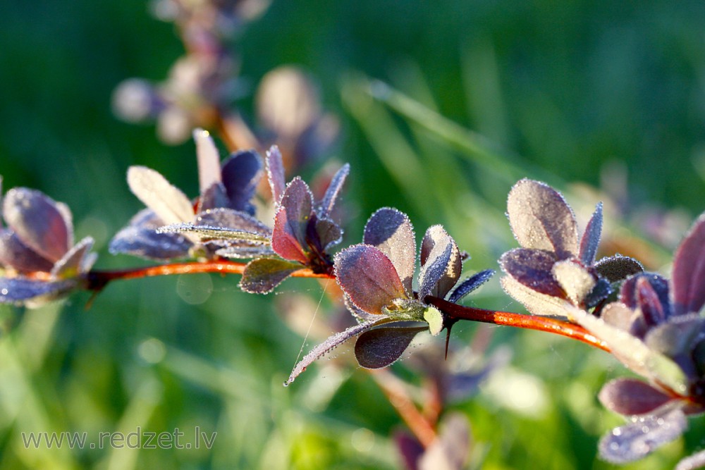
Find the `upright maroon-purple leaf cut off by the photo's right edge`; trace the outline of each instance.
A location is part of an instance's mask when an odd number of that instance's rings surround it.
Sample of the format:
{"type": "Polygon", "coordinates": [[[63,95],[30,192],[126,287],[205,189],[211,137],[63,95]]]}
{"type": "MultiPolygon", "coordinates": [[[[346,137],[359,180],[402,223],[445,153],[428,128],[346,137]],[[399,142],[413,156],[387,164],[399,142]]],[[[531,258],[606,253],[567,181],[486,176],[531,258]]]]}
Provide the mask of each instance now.
{"type": "Polygon", "coordinates": [[[705,214],[690,228],[673,259],[676,315],[698,312],[705,304],[705,214]]]}

